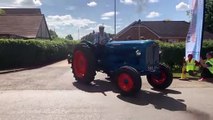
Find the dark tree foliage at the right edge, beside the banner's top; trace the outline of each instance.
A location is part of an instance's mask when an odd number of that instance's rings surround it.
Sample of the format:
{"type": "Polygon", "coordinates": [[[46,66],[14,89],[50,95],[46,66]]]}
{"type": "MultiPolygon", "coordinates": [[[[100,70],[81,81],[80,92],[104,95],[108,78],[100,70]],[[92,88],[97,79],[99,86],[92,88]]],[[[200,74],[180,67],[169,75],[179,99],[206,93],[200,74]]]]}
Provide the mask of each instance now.
{"type": "Polygon", "coordinates": [[[213,0],[206,0],[205,29],[213,33],[213,0]]]}

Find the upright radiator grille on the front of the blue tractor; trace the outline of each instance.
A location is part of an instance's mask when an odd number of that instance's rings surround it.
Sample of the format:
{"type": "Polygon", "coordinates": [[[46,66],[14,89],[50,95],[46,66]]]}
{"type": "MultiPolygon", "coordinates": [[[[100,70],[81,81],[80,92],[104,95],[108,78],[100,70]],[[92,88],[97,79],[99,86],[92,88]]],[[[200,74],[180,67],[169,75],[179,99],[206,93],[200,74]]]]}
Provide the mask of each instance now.
{"type": "Polygon", "coordinates": [[[159,63],[159,46],[152,44],[146,49],[146,65],[149,70],[155,69],[154,67],[159,63]]]}

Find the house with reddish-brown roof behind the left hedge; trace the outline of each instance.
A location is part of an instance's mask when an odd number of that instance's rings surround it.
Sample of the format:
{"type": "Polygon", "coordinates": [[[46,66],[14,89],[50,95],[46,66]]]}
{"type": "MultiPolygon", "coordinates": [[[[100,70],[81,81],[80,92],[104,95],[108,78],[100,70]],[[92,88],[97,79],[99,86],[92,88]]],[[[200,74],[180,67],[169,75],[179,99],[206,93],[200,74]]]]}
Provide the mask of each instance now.
{"type": "Polygon", "coordinates": [[[44,15],[38,8],[2,9],[0,38],[50,39],[44,15]]]}

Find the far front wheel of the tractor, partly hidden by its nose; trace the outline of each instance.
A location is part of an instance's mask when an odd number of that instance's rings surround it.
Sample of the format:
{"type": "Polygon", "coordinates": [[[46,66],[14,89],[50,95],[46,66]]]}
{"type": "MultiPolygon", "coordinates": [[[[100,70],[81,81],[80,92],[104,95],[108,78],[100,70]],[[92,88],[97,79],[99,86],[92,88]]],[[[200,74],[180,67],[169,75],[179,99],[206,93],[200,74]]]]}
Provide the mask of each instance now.
{"type": "Polygon", "coordinates": [[[150,74],[147,75],[149,84],[159,90],[164,90],[169,87],[173,81],[173,75],[170,68],[164,64],[160,64],[160,75],[150,74]]]}

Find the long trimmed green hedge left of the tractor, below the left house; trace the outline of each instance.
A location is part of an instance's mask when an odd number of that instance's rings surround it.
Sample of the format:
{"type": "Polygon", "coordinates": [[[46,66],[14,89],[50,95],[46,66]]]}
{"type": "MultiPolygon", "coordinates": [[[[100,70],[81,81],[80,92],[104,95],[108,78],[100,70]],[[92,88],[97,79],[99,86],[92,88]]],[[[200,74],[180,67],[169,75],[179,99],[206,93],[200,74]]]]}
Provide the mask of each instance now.
{"type": "Polygon", "coordinates": [[[0,39],[0,69],[43,65],[65,59],[75,41],[0,39]]]}

